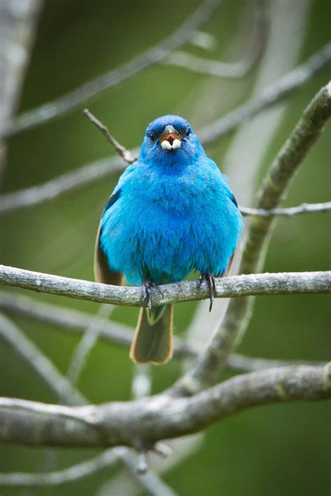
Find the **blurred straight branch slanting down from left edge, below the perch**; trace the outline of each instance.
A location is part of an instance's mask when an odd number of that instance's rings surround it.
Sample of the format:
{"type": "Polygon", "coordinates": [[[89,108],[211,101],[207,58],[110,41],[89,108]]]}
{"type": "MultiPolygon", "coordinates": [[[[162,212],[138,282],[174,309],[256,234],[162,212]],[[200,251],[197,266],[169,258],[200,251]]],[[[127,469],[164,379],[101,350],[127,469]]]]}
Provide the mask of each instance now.
{"type": "Polygon", "coordinates": [[[52,361],[47,358],[29,338],[18,329],[13,322],[0,313],[0,339],[5,341],[15,354],[20,356],[43,381],[50,386],[52,391],[61,394],[70,405],[82,405],[83,396],[55,368],[52,361]]]}

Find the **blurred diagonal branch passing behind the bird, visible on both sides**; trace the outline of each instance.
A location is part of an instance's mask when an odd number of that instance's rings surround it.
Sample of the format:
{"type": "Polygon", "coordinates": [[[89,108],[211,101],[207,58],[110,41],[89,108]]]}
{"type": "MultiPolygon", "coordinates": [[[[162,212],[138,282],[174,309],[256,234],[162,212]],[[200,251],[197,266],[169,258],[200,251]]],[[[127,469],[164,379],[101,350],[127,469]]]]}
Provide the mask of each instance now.
{"type": "MultiPolygon", "coordinates": [[[[206,144],[226,135],[238,125],[253,117],[253,115],[262,112],[265,108],[288,96],[291,91],[300,87],[319,70],[328,66],[330,61],[331,43],[326,45],[320,52],[314,54],[302,66],[297,67],[271,87],[268,87],[257,100],[245,103],[233,112],[198,131],[201,141],[206,144]]],[[[138,149],[134,149],[131,152],[132,156],[137,156],[138,151],[138,149]]],[[[53,200],[60,195],[82,188],[124,168],[125,165],[118,157],[109,157],[83,165],[73,172],[61,174],[39,186],[0,195],[0,216],[23,207],[53,200]]]]}

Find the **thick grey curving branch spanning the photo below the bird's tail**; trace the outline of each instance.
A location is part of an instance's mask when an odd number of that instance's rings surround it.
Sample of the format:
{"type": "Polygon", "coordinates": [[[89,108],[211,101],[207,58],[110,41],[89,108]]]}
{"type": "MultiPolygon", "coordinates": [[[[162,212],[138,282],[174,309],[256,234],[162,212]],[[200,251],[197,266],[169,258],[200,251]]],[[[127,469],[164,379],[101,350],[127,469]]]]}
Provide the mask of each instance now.
{"type": "Polygon", "coordinates": [[[330,364],[237,375],[188,398],[164,394],[127,403],[64,407],[0,398],[0,440],[30,446],[152,446],[267,403],[331,396],[330,364]],[[139,441],[138,441],[139,439],[139,441]]]}

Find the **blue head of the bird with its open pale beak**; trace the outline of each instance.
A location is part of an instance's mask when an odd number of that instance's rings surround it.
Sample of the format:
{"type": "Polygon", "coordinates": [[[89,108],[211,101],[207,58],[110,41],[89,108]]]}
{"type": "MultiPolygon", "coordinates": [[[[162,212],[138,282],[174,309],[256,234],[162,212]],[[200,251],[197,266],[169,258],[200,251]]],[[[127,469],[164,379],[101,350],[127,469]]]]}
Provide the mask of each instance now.
{"type": "Polygon", "coordinates": [[[147,126],[140,153],[145,160],[175,165],[204,151],[186,119],[163,115],[147,126]]]}

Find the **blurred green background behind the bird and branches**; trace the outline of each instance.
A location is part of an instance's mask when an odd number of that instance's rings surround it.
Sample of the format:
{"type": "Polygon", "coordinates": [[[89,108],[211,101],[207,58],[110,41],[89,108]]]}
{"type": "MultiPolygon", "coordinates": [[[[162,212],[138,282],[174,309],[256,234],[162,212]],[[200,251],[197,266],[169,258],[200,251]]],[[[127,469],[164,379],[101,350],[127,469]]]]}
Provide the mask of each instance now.
{"type": "MultiPolygon", "coordinates": [[[[15,1],[17,5],[20,2],[15,1]]],[[[189,0],[45,0],[17,114],[122,66],[169,36],[199,5],[189,0]]],[[[86,106],[129,149],[139,146],[149,121],[161,114],[182,115],[199,134],[203,126],[260,95],[321,49],[330,39],[330,18],[328,0],[223,0],[199,33],[179,50],[233,63],[248,57],[247,51],[258,36],[247,73],[237,78],[217,77],[174,66],[170,60],[149,66],[72,112],[12,137],[1,193],[41,184],[94,160],[115,156],[110,144],[83,116],[86,106]],[[257,15],[261,11],[262,23],[257,15]]],[[[207,154],[230,177],[240,204],[253,205],[267,167],[328,77],[330,66],[272,109],[206,145],[207,154]]],[[[329,128],[304,159],[284,205],[330,200],[330,151],[329,128]]],[[[120,173],[117,168],[103,179],[52,201],[1,216],[0,263],[93,280],[98,222],[120,173]]],[[[281,218],[264,270],[330,269],[329,242],[329,213],[281,218]]],[[[99,309],[96,303],[5,287],[1,290],[89,314],[99,309]]],[[[214,311],[221,311],[223,304],[220,302],[214,311]]],[[[184,337],[189,326],[192,329],[196,306],[176,306],[175,332],[179,336],[184,337]]],[[[112,320],[134,326],[137,315],[135,308],[119,307],[112,312],[112,320]]],[[[27,317],[10,318],[66,374],[80,337],[27,317]]],[[[194,331],[196,340],[205,342],[210,330],[208,318],[194,331]]],[[[260,296],[238,351],[265,358],[324,361],[330,350],[329,329],[330,301],[325,295],[260,296]]],[[[182,373],[182,366],[173,359],[166,366],[153,368],[152,392],[170,386],[182,373]]],[[[128,400],[133,373],[128,350],[100,340],[91,350],[78,388],[92,403],[128,400]]],[[[223,378],[230,374],[227,371],[223,378]]],[[[0,396],[58,400],[1,339],[0,396]]],[[[208,428],[204,435],[179,442],[172,458],[159,462],[157,469],[161,468],[163,480],[183,496],[326,495],[330,493],[328,421],[327,403],[250,409],[208,428]]],[[[67,467],[98,452],[56,449],[50,467],[67,467]]],[[[43,449],[0,447],[1,472],[35,472],[44,462],[43,449]]],[[[3,487],[0,494],[32,493],[3,487]]],[[[39,488],[34,494],[138,495],[146,494],[146,490],[140,490],[132,475],[117,465],[76,483],[39,488]]]]}

